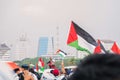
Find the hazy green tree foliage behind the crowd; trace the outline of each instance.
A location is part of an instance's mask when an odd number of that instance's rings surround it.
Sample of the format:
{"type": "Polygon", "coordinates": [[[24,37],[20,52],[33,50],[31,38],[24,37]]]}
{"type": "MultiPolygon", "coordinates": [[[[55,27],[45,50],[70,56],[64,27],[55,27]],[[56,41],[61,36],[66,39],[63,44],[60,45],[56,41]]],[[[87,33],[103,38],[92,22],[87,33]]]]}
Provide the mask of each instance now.
{"type": "MultiPolygon", "coordinates": [[[[38,63],[38,59],[39,57],[36,58],[25,58],[21,61],[14,61],[16,63],[18,63],[20,66],[23,64],[33,64],[36,65],[38,63]]],[[[44,63],[45,63],[45,68],[48,68],[47,62],[49,61],[49,58],[46,57],[42,57],[44,63]]],[[[61,61],[62,59],[59,60],[55,60],[55,65],[60,68],[61,67],[61,61]]],[[[77,65],[80,61],[80,59],[76,59],[76,58],[65,58],[63,59],[64,61],[64,65],[65,66],[73,66],[73,65],[77,65]]]]}

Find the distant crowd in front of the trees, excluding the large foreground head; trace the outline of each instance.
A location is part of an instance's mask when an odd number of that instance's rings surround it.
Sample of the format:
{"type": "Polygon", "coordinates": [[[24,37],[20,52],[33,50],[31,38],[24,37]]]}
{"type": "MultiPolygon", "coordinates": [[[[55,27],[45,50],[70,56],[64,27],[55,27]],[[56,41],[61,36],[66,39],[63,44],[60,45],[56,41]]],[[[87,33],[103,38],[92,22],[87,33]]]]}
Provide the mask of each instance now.
{"type": "Polygon", "coordinates": [[[64,68],[63,61],[61,62],[61,69],[56,67],[52,58],[47,62],[47,65],[49,66],[48,71],[44,70],[43,73],[39,73],[28,64],[23,64],[20,68],[14,69],[15,80],[67,80],[66,77],[72,72],[70,69],[64,68]],[[62,77],[60,77],[61,75],[62,77]]]}

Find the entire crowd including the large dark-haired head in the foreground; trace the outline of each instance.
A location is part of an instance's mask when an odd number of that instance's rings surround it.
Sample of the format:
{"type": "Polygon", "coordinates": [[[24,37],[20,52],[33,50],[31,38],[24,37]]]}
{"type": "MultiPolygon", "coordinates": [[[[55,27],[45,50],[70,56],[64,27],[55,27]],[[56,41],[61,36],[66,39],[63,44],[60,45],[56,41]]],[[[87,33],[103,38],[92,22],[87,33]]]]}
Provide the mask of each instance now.
{"type": "Polygon", "coordinates": [[[117,54],[91,54],[79,61],[74,70],[65,69],[64,62],[61,62],[61,69],[58,69],[54,61],[50,59],[47,63],[49,72],[44,71],[42,75],[22,65],[14,69],[15,80],[119,80],[120,79],[120,55],[117,54]],[[48,78],[54,76],[54,78],[48,78]],[[63,77],[60,78],[60,76],[63,77]]]}

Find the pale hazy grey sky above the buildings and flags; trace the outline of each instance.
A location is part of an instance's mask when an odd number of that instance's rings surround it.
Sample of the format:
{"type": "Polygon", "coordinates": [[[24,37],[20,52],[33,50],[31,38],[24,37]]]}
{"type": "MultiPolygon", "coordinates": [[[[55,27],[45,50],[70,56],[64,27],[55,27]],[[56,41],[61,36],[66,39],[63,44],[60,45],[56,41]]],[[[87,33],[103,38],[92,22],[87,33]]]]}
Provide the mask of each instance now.
{"type": "Polygon", "coordinates": [[[41,36],[57,36],[66,48],[71,20],[95,39],[120,44],[120,0],[0,0],[0,43],[15,44],[27,34],[33,52],[41,36]]]}

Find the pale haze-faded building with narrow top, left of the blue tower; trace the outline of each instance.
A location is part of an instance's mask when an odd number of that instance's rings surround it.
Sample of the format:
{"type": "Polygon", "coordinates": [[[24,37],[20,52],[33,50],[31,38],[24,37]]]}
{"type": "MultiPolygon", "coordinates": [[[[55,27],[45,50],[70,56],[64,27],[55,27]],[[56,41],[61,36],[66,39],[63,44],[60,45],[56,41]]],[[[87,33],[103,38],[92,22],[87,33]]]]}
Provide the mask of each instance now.
{"type": "Polygon", "coordinates": [[[22,60],[24,58],[29,58],[30,56],[31,56],[30,42],[28,42],[26,34],[21,34],[15,45],[14,58],[15,60],[22,60]]]}

